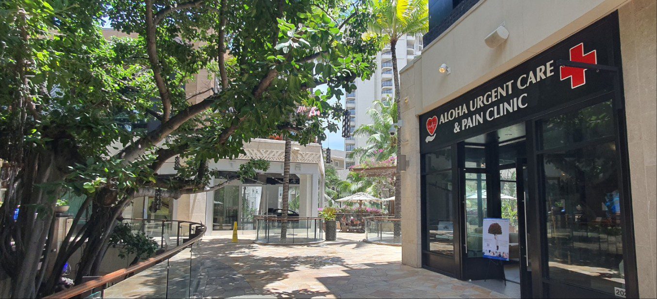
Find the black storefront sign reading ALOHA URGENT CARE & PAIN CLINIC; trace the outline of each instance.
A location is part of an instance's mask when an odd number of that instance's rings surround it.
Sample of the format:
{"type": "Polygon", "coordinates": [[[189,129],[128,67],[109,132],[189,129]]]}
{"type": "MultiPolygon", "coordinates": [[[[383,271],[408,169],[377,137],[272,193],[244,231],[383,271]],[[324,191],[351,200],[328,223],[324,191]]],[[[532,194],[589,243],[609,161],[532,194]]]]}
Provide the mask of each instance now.
{"type": "MultiPolygon", "coordinates": [[[[562,60],[614,66],[608,23],[587,28],[476,89],[420,116],[422,153],[518,123],[613,89],[613,72],[557,66],[562,60]]],[[[438,99],[436,99],[438,100],[438,99]]]]}

